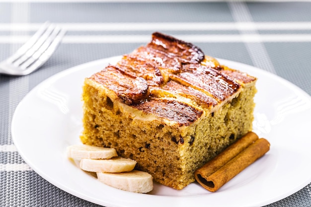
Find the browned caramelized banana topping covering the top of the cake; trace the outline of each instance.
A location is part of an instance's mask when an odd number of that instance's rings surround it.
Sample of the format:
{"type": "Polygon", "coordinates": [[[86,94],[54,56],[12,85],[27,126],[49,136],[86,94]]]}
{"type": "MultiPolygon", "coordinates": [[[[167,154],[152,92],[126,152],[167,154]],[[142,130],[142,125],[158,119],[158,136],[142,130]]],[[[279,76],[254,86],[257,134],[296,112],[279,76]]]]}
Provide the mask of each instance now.
{"type": "Polygon", "coordinates": [[[113,91],[123,103],[180,125],[203,114],[194,105],[212,109],[235,97],[240,84],[255,80],[205,57],[191,43],[158,32],[147,46],[90,79],[113,91]],[[183,101],[177,101],[177,96],[183,101]]]}

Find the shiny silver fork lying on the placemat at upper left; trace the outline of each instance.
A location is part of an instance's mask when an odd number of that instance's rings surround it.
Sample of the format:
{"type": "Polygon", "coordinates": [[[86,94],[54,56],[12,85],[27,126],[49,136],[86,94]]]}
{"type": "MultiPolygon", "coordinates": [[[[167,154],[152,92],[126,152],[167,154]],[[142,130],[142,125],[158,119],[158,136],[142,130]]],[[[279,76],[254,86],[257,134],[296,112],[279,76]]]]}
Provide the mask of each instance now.
{"type": "Polygon", "coordinates": [[[0,73],[27,75],[39,69],[54,53],[66,31],[45,22],[12,56],[0,62],[0,73]]]}

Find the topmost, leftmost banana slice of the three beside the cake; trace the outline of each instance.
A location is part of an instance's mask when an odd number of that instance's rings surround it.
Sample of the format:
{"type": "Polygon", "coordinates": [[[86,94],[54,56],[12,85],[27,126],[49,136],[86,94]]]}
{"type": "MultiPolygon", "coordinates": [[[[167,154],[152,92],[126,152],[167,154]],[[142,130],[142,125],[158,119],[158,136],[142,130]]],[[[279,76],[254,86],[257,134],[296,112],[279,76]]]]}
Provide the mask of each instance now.
{"type": "Polygon", "coordinates": [[[68,146],[67,156],[73,159],[109,159],[118,156],[118,154],[114,148],[79,144],[68,146]]]}

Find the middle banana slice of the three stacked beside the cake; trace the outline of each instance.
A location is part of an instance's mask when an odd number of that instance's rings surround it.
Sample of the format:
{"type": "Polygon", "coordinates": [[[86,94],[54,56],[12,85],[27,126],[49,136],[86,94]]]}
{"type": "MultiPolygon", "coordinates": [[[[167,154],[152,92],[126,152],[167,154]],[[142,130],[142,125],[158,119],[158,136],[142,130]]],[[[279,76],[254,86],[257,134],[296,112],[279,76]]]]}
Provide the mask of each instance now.
{"type": "Polygon", "coordinates": [[[134,169],[136,161],[123,157],[111,159],[81,159],[80,168],[90,172],[129,172],[134,169]]]}

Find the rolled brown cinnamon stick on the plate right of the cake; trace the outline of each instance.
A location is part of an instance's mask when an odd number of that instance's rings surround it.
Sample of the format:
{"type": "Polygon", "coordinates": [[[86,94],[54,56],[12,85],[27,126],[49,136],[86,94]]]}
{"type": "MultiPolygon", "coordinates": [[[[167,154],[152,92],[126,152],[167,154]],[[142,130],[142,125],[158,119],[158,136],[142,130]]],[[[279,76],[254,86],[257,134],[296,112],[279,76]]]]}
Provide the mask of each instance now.
{"type": "Polygon", "coordinates": [[[195,179],[215,192],[270,149],[265,138],[249,132],[195,171],[195,179]]]}

